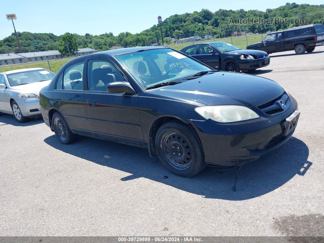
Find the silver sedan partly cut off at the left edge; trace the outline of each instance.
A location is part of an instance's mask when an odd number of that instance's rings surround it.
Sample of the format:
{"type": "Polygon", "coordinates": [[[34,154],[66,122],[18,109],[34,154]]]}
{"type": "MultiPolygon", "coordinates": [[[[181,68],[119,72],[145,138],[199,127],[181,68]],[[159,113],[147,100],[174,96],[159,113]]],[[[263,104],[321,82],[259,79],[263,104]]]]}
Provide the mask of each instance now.
{"type": "Polygon", "coordinates": [[[39,91],[55,76],[44,68],[17,69],[0,73],[0,115],[13,114],[20,123],[39,115],[39,91]]]}

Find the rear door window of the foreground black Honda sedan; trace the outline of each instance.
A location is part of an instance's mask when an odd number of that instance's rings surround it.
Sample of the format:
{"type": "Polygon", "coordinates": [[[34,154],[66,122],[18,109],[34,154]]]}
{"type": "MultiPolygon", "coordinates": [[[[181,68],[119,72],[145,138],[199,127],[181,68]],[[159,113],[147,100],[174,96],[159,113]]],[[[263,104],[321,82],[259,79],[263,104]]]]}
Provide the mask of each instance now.
{"type": "Polygon", "coordinates": [[[84,61],[65,68],[63,75],[64,90],[82,90],[84,61]]]}

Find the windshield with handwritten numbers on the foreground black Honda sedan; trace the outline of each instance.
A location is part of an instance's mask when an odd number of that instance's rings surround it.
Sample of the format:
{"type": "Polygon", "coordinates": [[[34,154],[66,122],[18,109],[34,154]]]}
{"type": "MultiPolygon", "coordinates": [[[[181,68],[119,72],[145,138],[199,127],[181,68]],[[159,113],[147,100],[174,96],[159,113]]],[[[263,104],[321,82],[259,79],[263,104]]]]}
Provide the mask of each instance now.
{"type": "Polygon", "coordinates": [[[118,55],[116,58],[144,88],[212,70],[168,48],[138,51],[118,55]]]}

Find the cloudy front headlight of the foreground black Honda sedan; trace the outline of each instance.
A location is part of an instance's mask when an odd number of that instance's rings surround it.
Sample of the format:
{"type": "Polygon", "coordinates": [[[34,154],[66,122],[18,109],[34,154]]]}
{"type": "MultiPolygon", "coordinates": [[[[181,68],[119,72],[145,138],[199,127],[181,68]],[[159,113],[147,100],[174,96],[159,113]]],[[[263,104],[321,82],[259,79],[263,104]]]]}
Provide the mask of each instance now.
{"type": "Polygon", "coordinates": [[[237,122],[260,117],[248,107],[241,105],[198,106],[195,111],[203,118],[217,122],[237,122]]]}

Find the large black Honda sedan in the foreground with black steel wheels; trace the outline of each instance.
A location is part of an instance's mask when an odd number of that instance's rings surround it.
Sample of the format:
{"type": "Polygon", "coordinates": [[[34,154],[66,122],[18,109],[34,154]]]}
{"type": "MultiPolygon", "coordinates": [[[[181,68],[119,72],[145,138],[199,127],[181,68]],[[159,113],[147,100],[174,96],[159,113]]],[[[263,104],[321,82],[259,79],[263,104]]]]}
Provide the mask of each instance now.
{"type": "Polygon", "coordinates": [[[147,148],[179,176],[258,159],[292,136],[299,117],[276,82],[161,47],[75,58],[41,90],[40,104],[61,143],[82,135],[147,148]]]}

